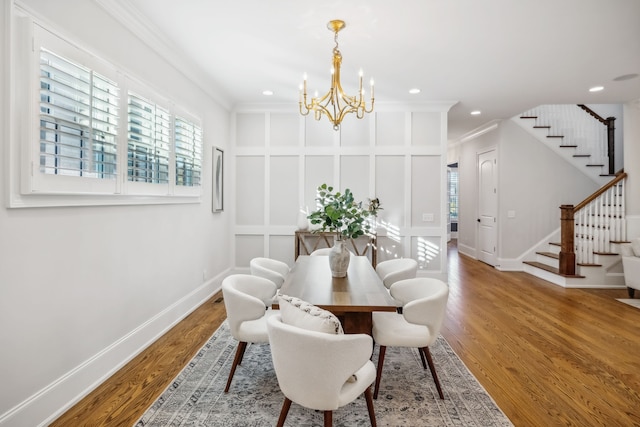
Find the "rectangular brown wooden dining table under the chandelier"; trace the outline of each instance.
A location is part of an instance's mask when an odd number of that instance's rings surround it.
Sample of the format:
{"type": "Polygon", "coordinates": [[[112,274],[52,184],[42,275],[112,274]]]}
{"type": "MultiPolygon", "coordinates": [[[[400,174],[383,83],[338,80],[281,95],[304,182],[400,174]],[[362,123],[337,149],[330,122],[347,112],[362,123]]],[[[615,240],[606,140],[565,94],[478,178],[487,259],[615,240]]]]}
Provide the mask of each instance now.
{"type": "Polygon", "coordinates": [[[396,311],[395,300],[365,256],[352,255],[342,278],[331,276],[328,256],[299,256],[280,293],[329,310],[345,333],[371,335],[374,311],[396,311]]]}

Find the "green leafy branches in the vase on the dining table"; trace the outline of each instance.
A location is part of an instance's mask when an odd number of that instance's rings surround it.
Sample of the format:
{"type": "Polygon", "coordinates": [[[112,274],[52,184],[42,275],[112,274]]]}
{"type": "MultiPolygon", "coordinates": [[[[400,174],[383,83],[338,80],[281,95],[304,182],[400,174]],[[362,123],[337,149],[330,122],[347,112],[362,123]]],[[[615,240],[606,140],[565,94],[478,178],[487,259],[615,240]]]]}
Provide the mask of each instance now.
{"type": "Polygon", "coordinates": [[[372,226],[369,217],[378,214],[380,201],[376,198],[369,201],[366,207],[356,202],[348,188],[344,193],[335,191],[333,187],[322,184],[318,187],[316,198],[319,208],[307,218],[312,225],[320,226],[316,231],[335,232],[338,238],[358,238],[371,234],[372,226]]]}

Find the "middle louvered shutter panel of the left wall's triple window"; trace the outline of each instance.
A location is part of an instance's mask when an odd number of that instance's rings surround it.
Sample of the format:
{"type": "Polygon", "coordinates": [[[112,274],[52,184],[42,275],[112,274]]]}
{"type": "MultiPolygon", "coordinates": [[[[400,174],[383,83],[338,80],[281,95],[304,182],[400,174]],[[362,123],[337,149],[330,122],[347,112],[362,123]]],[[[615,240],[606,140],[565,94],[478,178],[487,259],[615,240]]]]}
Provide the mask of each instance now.
{"type": "Polygon", "coordinates": [[[128,180],[167,184],[171,149],[169,111],[130,93],[128,120],[128,180]]]}

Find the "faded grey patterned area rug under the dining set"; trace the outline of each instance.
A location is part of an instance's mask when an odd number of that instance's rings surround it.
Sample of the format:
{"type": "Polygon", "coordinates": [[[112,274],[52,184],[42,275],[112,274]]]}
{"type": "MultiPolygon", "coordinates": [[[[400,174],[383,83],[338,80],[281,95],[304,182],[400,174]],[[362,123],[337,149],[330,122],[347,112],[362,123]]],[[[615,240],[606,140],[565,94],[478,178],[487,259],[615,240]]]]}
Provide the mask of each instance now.
{"type": "MultiPolygon", "coordinates": [[[[247,347],[224,393],[237,342],[225,321],[135,427],[275,426],[284,401],[268,344],[247,347]]],[[[417,350],[387,349],[378,399],[379,426],[512,426],[443,337],[430,346],[445,399],[417,350]]],[[[376,347],[373,361],[377,363],[376,347]]],[[[309,385],[313,387],[312,384],[309,385]]],[[[318,426],[320,411],[293,404],[286,426],[318,426]]],[[[333,413],[334,426],[368,426],[361,396],[333,413]]]]}

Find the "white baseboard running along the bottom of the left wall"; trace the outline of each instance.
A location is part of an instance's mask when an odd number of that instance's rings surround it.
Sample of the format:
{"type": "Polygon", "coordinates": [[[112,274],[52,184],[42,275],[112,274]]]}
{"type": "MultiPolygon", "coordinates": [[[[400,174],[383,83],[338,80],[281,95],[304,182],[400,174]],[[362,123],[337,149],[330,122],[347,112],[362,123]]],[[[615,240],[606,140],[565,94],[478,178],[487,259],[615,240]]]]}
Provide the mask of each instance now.
{"type": "Polygon", "coordinates": [[[47,426],[220,290],[208,280],[95,356],[0,414],[0,427],[47,426]]]}

